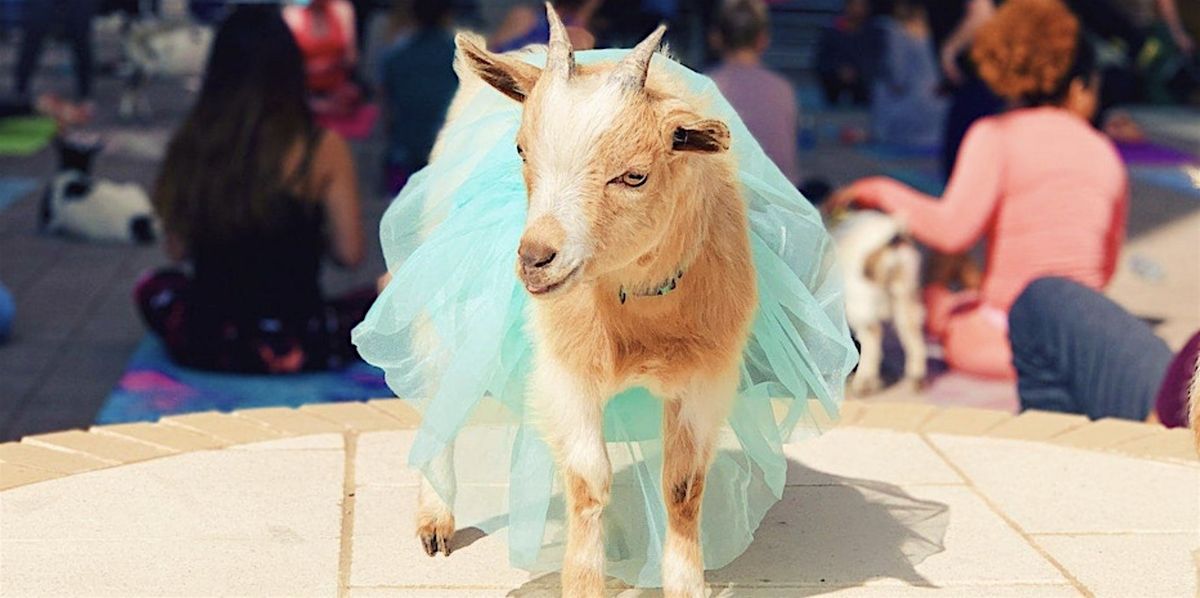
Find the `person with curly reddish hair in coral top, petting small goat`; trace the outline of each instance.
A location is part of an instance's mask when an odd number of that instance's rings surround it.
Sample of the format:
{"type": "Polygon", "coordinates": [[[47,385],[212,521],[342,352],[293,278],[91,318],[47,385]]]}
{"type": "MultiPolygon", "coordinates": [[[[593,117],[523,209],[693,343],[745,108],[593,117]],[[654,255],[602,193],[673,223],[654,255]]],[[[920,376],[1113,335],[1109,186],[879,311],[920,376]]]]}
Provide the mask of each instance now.
{"type": "Polygon", "coordinates": [[[1058,0],[1009,0],[980,28],[972,54],[1014,108],[971,126],[944,195],[876,177],[829,203],[894,214],[917,240],[947,253],[986,238],[980,289],[926,287],[926,328],[952,367],[1012,379],[1009,307],[1042,276],[1108,285],[1124,235],[1128,174],[1090,124],[1096,54],[1058,0]]]}

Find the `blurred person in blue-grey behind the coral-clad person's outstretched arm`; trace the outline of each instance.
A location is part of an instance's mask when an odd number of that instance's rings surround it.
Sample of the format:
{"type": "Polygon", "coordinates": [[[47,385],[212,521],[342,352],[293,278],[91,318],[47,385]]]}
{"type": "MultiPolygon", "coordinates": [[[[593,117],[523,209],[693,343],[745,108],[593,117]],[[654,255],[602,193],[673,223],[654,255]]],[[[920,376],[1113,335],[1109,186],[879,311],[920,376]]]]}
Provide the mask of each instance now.
{"type": "Polygon", "coordinates": [[[871,88],[871,137],[877,143],[935,148],[941,143],[947,100],[930,42],[925,8],[898,0],[882,17],[883,60],[871,88]]]}

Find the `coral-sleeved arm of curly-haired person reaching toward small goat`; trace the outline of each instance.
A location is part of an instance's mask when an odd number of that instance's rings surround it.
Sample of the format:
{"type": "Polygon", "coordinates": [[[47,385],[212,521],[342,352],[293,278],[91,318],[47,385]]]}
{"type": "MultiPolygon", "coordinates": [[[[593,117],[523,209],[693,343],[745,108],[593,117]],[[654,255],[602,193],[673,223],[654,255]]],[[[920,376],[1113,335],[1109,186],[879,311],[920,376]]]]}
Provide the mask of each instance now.
{"type": "Polygon", "coordinates": [[[980,120],[967,131],[941,199],[887,177],[871,177],[839,192],[834,209],[847,203],[877,208],[895,215],[917,240],[937,251],[971,249],[1000,202],[1003,168],[995,126],[980,120]]]}

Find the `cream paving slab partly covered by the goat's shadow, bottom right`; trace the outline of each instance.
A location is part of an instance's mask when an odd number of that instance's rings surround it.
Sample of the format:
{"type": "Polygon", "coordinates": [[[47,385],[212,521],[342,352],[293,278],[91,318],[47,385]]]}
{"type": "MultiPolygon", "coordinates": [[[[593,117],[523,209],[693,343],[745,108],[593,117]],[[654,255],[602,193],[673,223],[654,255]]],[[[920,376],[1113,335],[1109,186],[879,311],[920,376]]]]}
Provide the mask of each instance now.
{"type": "Polygon", "coordinates": [[[746,552],[707,579],[888,590],[1068,582],[971,489],[872,482],[788,486],[746,552]],[[784,555],[798,566],[781,567],[784,555]]]}

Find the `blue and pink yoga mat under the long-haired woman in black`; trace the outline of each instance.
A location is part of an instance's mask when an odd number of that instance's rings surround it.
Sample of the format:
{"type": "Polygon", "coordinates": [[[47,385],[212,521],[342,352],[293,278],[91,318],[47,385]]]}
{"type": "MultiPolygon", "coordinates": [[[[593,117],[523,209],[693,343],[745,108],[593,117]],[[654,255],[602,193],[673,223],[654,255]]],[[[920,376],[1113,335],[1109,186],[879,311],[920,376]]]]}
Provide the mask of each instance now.
{"type": "Polygon", "coordinates": [[[148,335],[130,358],[96,423],[154,421],[163,415],[198,411],[298,407],[388,396],[392,393],[384,383],[383,371],[361,361],[335,372],[217,373],[176,365],[162,342],[148,335]]]}

